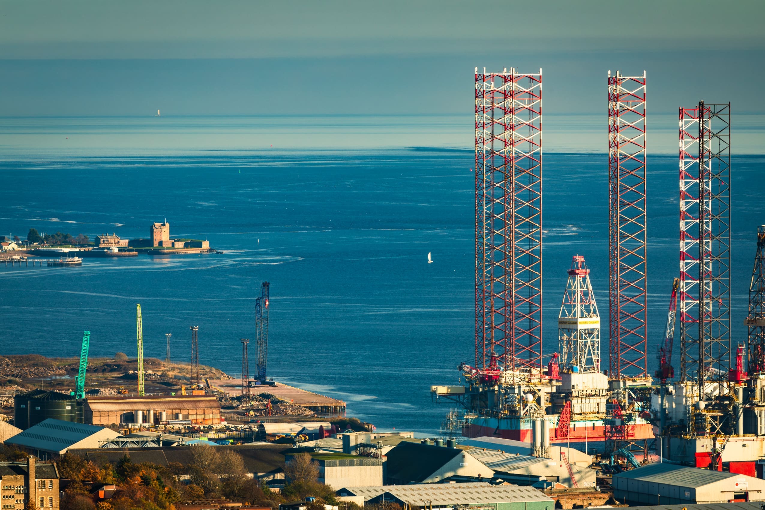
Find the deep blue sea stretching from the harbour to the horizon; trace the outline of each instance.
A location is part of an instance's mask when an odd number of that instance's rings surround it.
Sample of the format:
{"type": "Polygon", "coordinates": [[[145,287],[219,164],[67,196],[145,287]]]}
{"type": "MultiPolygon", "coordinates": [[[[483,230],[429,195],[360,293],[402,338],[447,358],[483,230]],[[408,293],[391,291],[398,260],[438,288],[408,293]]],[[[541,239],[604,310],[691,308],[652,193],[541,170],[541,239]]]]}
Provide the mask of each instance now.
{"type": "MultiPolygon", "coordinates": [[[[220,119],[176,122],[156,135],[146,119],[127,128],[113,119],[0,120],[0,232],[134,238],[168,219],[171,236],[208,239],[225,252],[0,267],[0,352],[77,356],[90,330],[93,356],[135,356],[141,303],[146,356],[164,357],[164,333],[172,333],[173,358],[188,359],[189,326],[198,325],[200,361],[237,374],[239,339],[254,338],[254,300],[260,282],[270,281],[270,375],[342,398],[349,414],[378,427],[438,429],[448,406],[432,404],[429,387],[457,382],[457,365],[473,356],[469,116],[467,128],[444,121],[438,129],[454,143],[431,148],[417,135],[426,126],[406,119],[377,127],[336,119],[328,123],[343,127],[327,129],[334,139],[344,136],[337,130],[393,133],[399,145],[409,138],[419,148],[309,150],[302,135],[286,143],[284,125],[274,128],[278,147],[269,147],[262,125],[252,128],[258,142],[247,145],[244,122],[232,136],[246,151],[233,150],[220,119]],[[214,141],[204,143],[205,133],[214,141]],[[75,148],[65,145],[69,135],[75,148]],[[142,145],[156,138],[168,148],[142,145]]],[[[323,132],[318,124],[311,136],[323,132]]],[[[745,338],[754,232],[765,223],[763,164],[757,155],[737,155],[733,164],[735,341],[745,338]]],[[[675,155],[650,156],[650,352],[678,266],[677,176],[675,155]]],[[[543,179],[544,336],[553,352],[571,255],[586,257],[607,317],[606,155],[548,149],[543,179]]],[[[653,371],[653,356],[649,362],[653,371]]]]}

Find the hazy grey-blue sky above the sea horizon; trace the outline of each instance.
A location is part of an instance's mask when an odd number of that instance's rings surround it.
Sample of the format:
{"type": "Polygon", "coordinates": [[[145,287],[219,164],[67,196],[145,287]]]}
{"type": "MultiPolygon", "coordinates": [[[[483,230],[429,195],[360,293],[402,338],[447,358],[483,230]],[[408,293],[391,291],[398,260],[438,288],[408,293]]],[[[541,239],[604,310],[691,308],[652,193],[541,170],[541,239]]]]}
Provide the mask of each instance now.
{"type": "Polygon", "coordinates": [[[543,70],[547,115],[765,113],[765,2],[0,1],[0,116],[470,115],[475,67],[543,70]]]}

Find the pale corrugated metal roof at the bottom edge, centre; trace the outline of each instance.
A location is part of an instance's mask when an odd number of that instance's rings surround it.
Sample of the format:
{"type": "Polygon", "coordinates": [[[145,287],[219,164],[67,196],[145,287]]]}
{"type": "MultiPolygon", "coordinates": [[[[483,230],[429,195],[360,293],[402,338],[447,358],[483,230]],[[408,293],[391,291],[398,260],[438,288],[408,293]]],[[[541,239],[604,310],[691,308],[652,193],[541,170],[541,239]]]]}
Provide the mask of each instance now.
{"type": "Polygon", "coordinates": [[[500,502],[550,501],[552,499],[529,486],[492,486],[489,483],[424,483],[407,486],[346,487],[336,493],[359,495],[364,501],[389,494],[402,502],[418,505],[470,505],[500,502]]]}

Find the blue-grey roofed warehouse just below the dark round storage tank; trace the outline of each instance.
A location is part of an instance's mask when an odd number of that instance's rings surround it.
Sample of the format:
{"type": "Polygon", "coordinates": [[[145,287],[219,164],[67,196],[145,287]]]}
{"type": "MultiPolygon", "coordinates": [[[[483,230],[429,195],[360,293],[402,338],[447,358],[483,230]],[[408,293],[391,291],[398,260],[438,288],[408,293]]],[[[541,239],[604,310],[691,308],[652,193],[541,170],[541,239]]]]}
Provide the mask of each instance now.
{"type": "Polygon", "coordinates": [[[106,427],[48,418],[21,434],[6,439],[5,444],[33,453],[41,460],[47,460],[57,459],[70,448],[98,448],[99,441],[114,437],[122,437],[122,434],[106,427]]]}

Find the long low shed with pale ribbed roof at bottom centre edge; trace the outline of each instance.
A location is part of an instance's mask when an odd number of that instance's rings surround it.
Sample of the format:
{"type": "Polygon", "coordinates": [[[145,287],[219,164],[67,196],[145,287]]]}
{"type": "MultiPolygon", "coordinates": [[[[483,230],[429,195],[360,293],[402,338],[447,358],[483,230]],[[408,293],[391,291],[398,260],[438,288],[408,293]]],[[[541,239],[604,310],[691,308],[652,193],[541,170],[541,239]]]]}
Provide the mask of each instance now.
{"type": "Polygon", "coordinates": [[[529,486],[493,486],[476,483],[423,483],[405,486],[345,487],[336,492],[343,499],[363,498],[364,505],[383,501],[404,506],[453,507],[496,505],[496,510],[553,510],[548,495],[529,486]]]}

